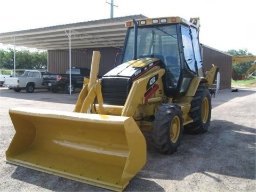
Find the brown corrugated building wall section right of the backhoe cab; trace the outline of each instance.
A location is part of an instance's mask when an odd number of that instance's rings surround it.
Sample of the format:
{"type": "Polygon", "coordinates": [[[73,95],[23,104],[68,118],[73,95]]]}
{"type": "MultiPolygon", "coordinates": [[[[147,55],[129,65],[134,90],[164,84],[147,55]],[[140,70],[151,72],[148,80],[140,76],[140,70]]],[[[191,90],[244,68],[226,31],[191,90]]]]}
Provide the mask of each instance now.
{"type": "Polygon", "coordinates": [[[232,77],[232,55],[215,50],[206,45],[201,47],[201,51],[204,71],[209,71],[212,65],[218,66],[220,72],[220,89],[230,89],[232,77]]]}

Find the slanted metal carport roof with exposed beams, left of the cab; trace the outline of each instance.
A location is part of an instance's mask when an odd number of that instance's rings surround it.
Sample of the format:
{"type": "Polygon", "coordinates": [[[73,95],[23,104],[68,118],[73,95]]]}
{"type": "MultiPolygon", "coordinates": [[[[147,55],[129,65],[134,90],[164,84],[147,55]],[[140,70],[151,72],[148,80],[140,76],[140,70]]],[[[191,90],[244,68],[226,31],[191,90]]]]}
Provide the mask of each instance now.
{"type": "Polygon", "coordinates": [[[125,21],[133,18],[147,17],[139,14],[0,33],[0,43],[14,45],[15,41],[15,46],[39,50],[67,50],[69,49],[68,35],[71,34],[71,49],[122,47],[126,34],[125,21]]]}

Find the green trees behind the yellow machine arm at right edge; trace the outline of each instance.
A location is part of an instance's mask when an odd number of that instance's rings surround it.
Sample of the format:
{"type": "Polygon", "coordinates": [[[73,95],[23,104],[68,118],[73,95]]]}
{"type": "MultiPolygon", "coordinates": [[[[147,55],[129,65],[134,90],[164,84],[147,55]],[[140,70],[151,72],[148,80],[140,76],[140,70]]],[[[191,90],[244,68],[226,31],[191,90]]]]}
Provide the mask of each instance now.
{"type": "MultiPolygon", "coordinates": [[[[242,55],[252,55],[252,53],[248,52],[247,49],[243,50],[228,50],[226,53],[231,54],[233,56],[242,56],[242,55]]],[[[232,65],[232,69],[236,71],[238,75],[244,75],[245,72],[252,66],[253,62],[241,62],[232,65]]]]}

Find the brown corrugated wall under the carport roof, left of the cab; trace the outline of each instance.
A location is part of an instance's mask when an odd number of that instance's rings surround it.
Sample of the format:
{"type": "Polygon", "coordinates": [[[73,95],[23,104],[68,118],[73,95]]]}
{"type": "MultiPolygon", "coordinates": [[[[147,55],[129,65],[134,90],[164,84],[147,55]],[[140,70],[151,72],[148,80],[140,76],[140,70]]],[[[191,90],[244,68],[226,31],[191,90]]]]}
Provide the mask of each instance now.
{"type": "MultiPolygon", "coordinates": [[[[106,74],[114,67],[117,53],[121,53],[121,49],[116,47],[93,48],[82,51],[71,51],[71,67],[85,67],[91,69],[93,51],[100,51],[100,67],[99,75],[106,74]]],[[[69,50],[49,50],[48,66],[52,73],[65,73],[69,68],[69,50]]]]}

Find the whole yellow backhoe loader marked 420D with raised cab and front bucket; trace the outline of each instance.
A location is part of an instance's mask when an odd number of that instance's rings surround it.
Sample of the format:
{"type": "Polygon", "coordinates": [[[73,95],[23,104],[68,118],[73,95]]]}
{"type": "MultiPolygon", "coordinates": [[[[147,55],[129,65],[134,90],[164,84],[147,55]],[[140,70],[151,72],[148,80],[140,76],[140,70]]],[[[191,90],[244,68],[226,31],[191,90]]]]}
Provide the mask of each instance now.
{"type": "Polygon", "coordinates": [[[204,133],[218,67],[204,74],[199,18],[125,22],[119,65],[97,79],[100,52],[93,52],[73,112],[12,108],[14,138],[7,162],[106,189],[122,191],[146,163],[146,139],[174,153],[183,129],[204,133]]]}

